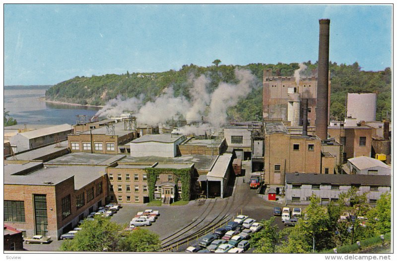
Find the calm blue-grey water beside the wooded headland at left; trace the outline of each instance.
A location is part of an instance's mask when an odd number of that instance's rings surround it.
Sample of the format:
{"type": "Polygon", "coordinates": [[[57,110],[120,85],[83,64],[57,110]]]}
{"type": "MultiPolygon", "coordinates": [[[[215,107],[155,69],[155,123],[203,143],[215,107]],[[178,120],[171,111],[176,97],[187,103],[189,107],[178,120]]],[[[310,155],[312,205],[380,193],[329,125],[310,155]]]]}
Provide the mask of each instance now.
{"type": "Polygon", "coordinates": [[[40,87],[5,87],[4,108],[18,124],[75,124],[76,115],[91,118],[97,107],[52,104],[40,100],[46,89],[40,87]]]}

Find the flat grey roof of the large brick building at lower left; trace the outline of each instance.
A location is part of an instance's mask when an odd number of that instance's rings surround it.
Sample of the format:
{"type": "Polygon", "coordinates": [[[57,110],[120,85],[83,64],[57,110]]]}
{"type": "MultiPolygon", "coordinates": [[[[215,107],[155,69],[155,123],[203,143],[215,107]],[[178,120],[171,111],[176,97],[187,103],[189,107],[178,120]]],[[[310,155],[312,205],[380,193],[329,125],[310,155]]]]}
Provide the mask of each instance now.
{"type": "Polygon", "coordinates": [[[78,190],[105,173],[102,166],[46,166],[25,175],[4,173],[4,184],[54,186],[74,176],[74,189],[78,190]]]}

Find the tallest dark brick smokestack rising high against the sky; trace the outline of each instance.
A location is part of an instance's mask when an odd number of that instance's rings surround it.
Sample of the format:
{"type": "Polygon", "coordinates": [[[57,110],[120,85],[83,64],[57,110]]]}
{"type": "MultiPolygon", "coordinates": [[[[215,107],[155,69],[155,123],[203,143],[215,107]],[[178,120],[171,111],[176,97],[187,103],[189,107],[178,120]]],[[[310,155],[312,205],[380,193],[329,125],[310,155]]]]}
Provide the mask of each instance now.
{"type": "Polygon", "coordinates": [[[316,102],[316,135],[326,140],[328,122],[328,69],[330,52],[330,19],[320,19],[318,84],[316,102]]]}

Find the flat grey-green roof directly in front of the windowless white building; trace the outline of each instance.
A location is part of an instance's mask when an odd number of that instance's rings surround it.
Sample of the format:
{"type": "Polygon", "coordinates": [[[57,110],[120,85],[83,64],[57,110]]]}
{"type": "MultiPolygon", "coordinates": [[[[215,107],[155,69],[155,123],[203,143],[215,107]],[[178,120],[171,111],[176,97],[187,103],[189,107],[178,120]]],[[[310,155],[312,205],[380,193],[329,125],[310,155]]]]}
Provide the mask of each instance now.
{"type": "Polygon", "coordinates": [[[162,163],[195,163],[195,168],[198,170],[210,170],[213,162],[215,161],[217,156],[204,156],[204,155],[186,155],[182,157],[156,157],[156,156],[147,156],[147,157],[125,157],[121,162],[162,162],[162,163]]]}

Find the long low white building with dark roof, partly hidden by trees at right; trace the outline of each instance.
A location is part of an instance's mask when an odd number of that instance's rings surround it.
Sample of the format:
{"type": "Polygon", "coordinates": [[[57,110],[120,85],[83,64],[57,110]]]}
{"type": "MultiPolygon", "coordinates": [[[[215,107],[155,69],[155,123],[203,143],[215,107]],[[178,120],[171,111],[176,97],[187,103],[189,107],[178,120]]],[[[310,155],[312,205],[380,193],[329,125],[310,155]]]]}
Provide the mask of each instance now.
{"type": "Polygon", "coordinates": [[[391,191],[391,176],[382,175],[331,175],[316,173],[286,173],[285,198],[287,204],[307,205],[316,195],[323,205],[337,201],[342,192],[351,187],[359,194],[367,193],[369,204],[376,204],[381,195],[391,191]]]}

